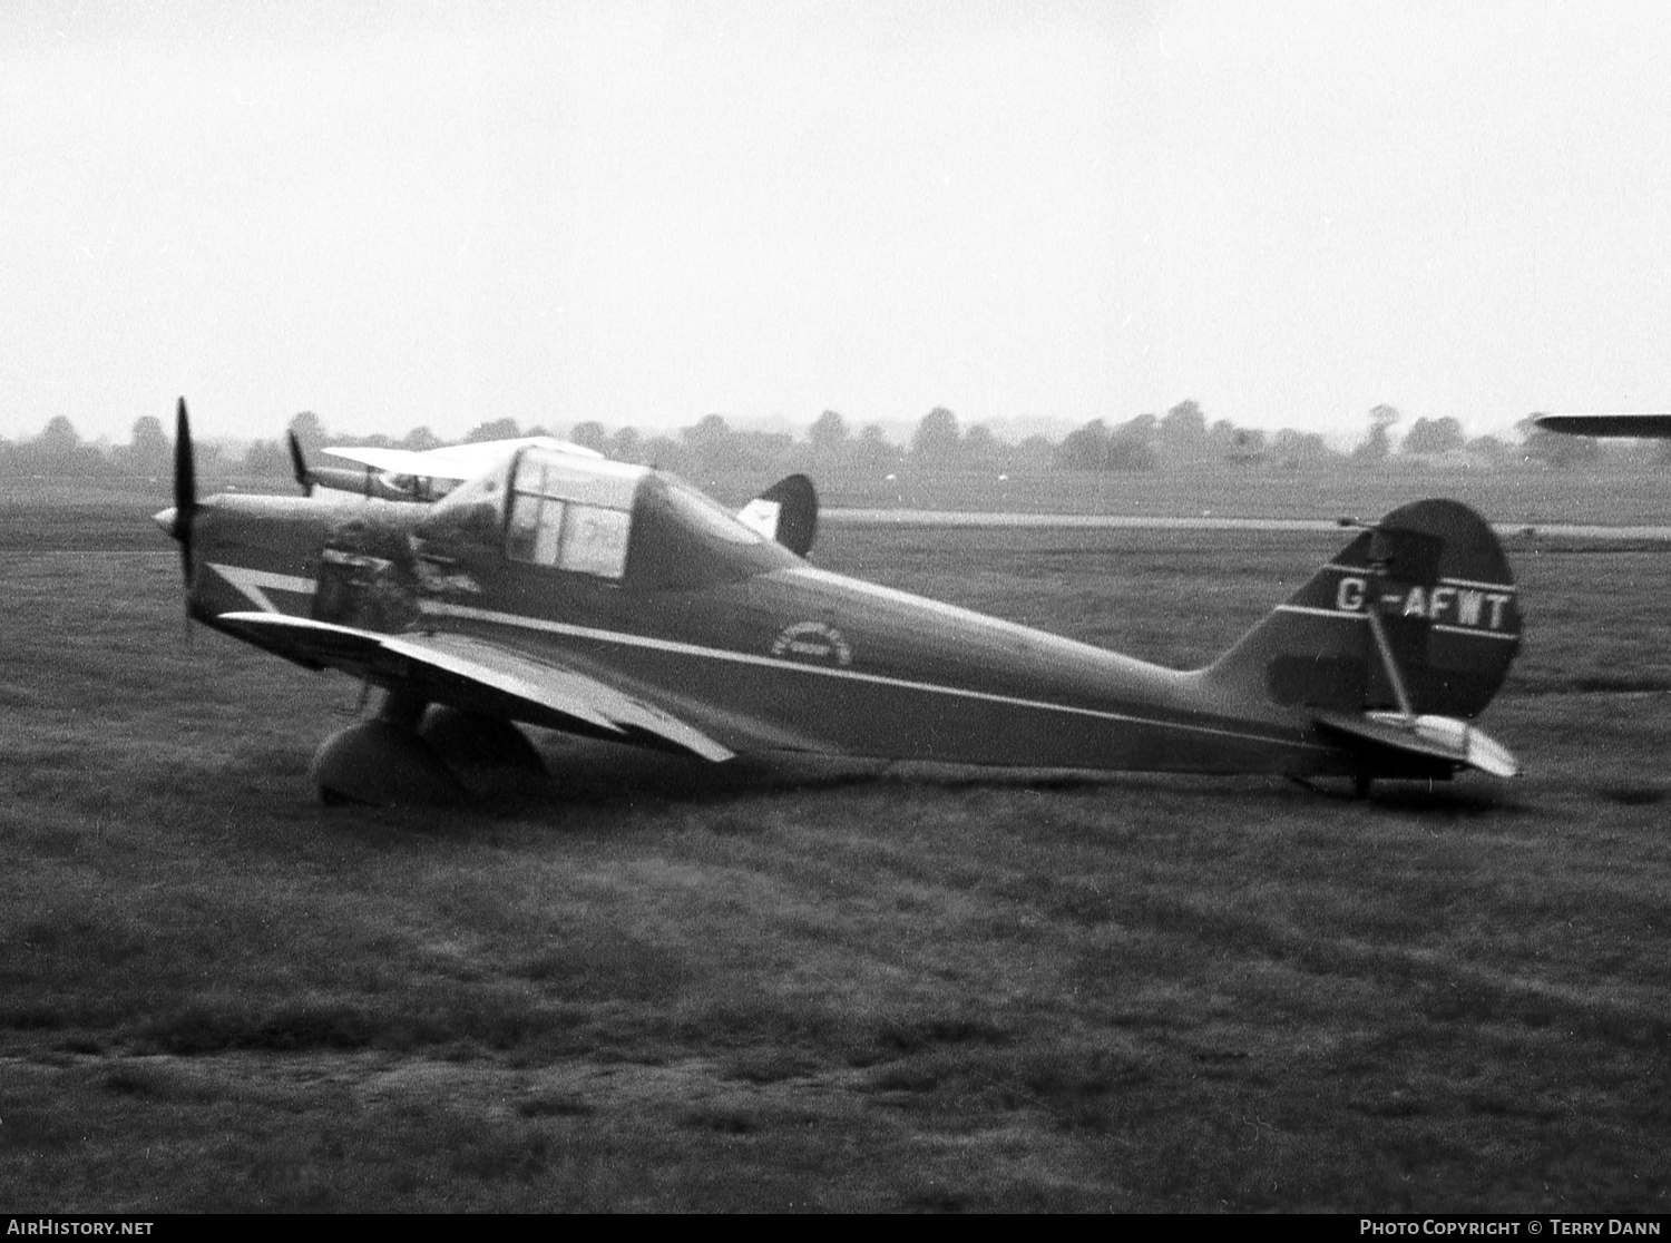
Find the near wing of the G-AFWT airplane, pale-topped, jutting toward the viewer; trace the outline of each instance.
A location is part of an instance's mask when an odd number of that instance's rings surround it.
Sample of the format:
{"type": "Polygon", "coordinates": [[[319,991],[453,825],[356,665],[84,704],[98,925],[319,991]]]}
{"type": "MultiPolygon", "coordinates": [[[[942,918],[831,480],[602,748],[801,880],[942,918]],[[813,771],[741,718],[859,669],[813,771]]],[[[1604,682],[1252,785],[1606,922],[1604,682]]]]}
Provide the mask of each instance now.
{"type": "Polygon", "coordinates": [[[436,703],[530,725],[729,760],[734,752],[677,715],[570,668],[470,635],[381,635],[287,613],[222,613],[219,625],[304,665],[339,668],[436,703]]]}

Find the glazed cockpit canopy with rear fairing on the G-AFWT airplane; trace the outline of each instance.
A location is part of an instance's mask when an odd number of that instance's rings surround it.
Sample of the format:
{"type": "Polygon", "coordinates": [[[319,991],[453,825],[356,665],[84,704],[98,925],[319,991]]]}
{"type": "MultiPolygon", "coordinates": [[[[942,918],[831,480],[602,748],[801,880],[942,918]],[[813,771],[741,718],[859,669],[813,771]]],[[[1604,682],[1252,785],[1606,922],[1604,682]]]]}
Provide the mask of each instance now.
{"type": "Polygon", "coordinates": [[[438,501],[419,533],[493,543],[506,561],[630,588],[697,588],[795,563],[682,479],[536,446],[438,501]]]}

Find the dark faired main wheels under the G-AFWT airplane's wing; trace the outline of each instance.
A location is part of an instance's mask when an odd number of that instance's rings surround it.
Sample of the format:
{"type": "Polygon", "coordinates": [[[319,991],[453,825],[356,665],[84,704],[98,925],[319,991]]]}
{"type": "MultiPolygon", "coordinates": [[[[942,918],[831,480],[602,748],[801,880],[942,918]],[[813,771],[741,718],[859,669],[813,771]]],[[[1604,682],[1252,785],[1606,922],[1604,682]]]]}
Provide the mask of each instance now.
{"type": "Polygon", "coordinates": [[[533,745],[508,720],[389,693],[373,720],[321,743],[309,775],[326,804],[458,807],[470,802],[470,790],[455,765],[545,774],[533,745]]]}

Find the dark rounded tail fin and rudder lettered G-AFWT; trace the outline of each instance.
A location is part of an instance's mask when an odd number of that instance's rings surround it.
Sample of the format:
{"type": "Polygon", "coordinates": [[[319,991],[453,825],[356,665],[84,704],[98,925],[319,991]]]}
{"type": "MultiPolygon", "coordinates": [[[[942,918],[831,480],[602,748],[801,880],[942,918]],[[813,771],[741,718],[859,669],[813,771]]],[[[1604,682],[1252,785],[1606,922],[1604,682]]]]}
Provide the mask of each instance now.
{"type": "Polygon", "coordinates": [[[1457,501],[1415,501],[1360,531],[1206,678],[1320,712],[1470,718],[1519,647],[1514,576],[1491,526],[1457,501]]]}

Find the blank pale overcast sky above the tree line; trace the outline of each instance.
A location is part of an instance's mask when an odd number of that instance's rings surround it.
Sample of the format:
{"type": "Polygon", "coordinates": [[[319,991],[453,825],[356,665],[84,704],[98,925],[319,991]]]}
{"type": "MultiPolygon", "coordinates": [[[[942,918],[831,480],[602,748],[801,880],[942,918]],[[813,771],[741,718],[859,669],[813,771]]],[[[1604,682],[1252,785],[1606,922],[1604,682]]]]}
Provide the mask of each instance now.
{"type": "Polygon", "coordinates": [[[0,434],[1671,408],[1658,3],[0,7],[0,434]]]}

